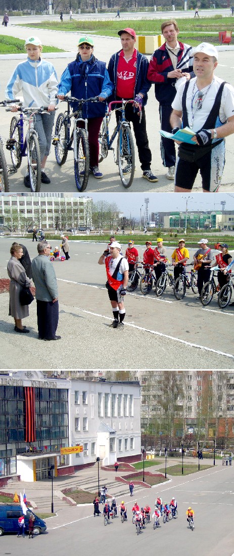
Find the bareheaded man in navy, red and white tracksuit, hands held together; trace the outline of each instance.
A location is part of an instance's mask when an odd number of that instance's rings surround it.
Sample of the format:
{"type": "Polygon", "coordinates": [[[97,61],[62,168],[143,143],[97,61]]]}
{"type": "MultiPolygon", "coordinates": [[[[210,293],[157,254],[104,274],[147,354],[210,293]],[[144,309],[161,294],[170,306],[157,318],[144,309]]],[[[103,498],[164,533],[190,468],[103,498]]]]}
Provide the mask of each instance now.
{"type": "MultiPolygon", "coordinates": [[[[166,42],[152,54],[148,68],[148,80],[155,83],[155,96],[160,103],[161,129],[171,133],[170,116],[172,102],[176,96],[178,86],[185,79],[195,77],[193,73],[191,53],[193,48],[189,44],[177,41],[179,32],[175,19],[165,21],[161,31],[166,42]],[[181,79],[184,77],[184,79],[181,79]]],[[[175,178],[176,149],[171,139],[161,137],[161,157],[163,166],[168,168],[168,180],[175,178]]]]}

